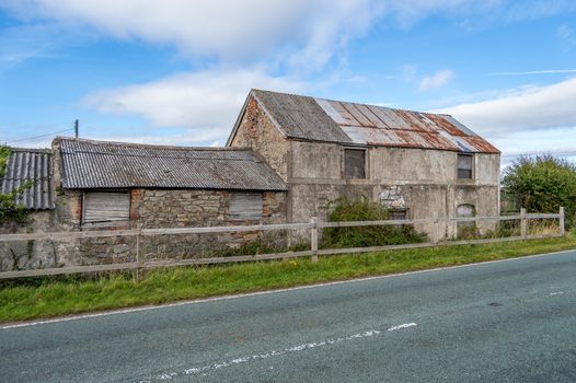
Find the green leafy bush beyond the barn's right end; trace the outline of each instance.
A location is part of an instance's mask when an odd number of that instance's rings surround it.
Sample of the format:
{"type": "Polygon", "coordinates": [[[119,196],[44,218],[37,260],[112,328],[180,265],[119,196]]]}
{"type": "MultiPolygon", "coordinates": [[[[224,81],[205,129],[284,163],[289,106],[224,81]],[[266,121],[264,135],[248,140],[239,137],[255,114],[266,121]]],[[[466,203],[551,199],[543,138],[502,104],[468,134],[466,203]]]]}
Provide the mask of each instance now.
{"type": "Polygon", "coordinates": [[[565,208],[566,225],[576,224],[576,165],[550,154],[522,156],[504,172],[504,187],[530,212],[565,208]]]}

